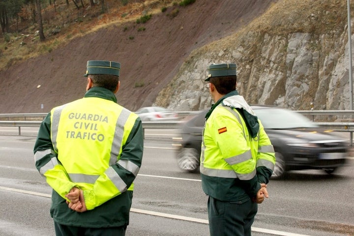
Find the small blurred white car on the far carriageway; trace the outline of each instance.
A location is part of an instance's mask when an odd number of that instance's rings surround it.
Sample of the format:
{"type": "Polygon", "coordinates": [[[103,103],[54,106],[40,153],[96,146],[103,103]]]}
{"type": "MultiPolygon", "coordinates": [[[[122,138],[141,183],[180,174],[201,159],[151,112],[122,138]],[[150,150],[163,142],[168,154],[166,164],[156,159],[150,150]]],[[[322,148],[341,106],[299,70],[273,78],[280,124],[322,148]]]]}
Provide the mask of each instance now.
{"type": "Polygon", "coordinates": [[[176,121],[178,114],[163,107],[142,107],[135,112],[142,121],[176,121]]]}

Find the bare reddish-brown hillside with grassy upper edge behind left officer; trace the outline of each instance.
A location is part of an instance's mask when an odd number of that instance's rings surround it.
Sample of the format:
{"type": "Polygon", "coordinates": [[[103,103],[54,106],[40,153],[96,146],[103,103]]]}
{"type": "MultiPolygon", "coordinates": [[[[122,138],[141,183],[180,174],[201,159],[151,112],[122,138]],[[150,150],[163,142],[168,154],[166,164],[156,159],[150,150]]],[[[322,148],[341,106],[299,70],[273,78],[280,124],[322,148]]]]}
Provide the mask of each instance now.
{"type": "MultiPolygon", "coordinates": [[[[134,0],[115,8],[120,1],[105,0],[110,11],[103,15],[92,14],[90,8],[72,10],[67,14],[80,13],[67,23],[74,30],[64,24],[52,44],[44,44],[46,54],[25,61],[24,56],[13,55],[7,66],[0,66],[0,113],[49,112],[53,106],[81,98],[86,63],[94,59],[121,63],[119,104],[133,111],[150,106],[192,50],[238,31],[275,1],[196,0],[180,6],[174,0],[134,0]],[[146,23],[137,23],[150,14],[146,23]],[[62,37],[65,43],[55,47],[62,37]]],[[[30,40],[24,46],[20,42],[12,47],[33,51],[30,40]]]]}

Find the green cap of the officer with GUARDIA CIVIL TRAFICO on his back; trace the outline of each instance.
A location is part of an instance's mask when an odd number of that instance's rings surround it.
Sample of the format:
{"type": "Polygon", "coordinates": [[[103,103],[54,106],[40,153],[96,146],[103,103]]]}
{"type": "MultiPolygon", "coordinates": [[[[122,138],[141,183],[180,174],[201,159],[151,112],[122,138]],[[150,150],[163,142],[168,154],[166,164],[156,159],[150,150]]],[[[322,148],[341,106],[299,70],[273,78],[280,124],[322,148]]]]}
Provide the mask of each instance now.
{"type": "Polygon", "coordinates": [[[88,60],[85,77],[93,74],[119,76],[120,63],[109,60],[88,60]]]}

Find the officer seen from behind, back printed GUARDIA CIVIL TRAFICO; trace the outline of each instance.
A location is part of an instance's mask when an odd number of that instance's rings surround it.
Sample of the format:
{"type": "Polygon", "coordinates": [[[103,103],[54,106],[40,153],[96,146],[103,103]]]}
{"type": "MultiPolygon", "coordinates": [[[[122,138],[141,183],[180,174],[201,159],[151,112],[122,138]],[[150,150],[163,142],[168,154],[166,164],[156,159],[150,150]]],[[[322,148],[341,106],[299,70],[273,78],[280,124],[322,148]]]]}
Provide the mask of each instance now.
{"type": "Polygon", "coordinates": [[[34,146],[57,236],[124,236],[143,157],[141,119],[117,104],[120,63],[87,62],[84,98],[53,108],[34,146]]]}

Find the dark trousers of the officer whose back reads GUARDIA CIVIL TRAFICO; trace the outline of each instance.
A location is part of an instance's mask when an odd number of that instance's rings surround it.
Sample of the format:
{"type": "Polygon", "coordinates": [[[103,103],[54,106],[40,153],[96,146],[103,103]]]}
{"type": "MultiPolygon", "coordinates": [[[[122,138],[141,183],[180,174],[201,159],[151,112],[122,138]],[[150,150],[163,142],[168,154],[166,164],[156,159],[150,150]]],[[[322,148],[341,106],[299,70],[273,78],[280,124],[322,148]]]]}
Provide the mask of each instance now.
{"type": "Polygon", "coordinates": [[[110,228],[84,228],[54,222],[56,236],[125,236],[127,226],[110,228]]]}

